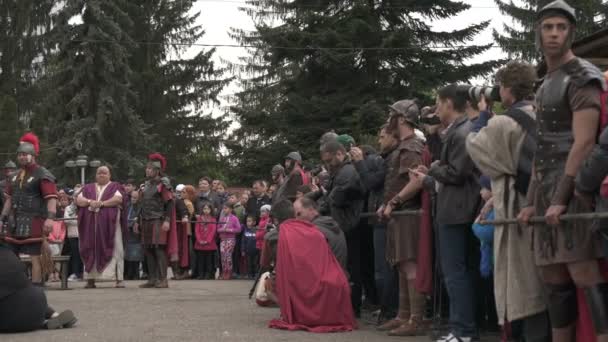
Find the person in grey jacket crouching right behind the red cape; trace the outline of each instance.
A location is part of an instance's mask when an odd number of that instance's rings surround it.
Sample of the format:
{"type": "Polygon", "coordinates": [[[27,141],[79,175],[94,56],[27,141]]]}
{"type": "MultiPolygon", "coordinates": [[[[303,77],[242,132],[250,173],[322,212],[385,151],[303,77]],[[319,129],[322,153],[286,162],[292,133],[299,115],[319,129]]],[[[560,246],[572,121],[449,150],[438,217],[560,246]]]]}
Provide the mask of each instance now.
{"type": "Polygon", "coordinates": [[[319,205],[317,202],[306,196],[298,199],[293,204],[293,209],[297,219],[314,224],[319,228],[319,231],[325,235],[329,248],[334,253],[336,259],[338,259],[342,269],[346,271],[346,238],[338,223],[329,216],[321,216],[321,214],[319,214],[319,205]]]}

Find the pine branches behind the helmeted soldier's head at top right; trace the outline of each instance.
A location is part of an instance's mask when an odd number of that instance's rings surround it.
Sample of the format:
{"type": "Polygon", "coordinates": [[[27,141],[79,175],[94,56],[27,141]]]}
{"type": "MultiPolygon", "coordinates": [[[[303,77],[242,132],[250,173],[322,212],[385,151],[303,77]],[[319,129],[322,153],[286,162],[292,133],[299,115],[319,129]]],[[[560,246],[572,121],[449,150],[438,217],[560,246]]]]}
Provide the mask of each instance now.
{"type": "MultiPolygon", "coordinates": [[[[531,62],[540,59],[540,53],[535,46],[536,13],[552,1],[523,0],[514,3],[494,0],[500,12],[512,19],[512,22],[503,25],[504,33],[496,29],[493,31],[494,40],[512,59],[519,58],[531,62]]],[[[576,9],[576,37],[591,34],[608,24],[608,2],[605,0],[577,0],[570,1],[570,5],[576,9]]]]}

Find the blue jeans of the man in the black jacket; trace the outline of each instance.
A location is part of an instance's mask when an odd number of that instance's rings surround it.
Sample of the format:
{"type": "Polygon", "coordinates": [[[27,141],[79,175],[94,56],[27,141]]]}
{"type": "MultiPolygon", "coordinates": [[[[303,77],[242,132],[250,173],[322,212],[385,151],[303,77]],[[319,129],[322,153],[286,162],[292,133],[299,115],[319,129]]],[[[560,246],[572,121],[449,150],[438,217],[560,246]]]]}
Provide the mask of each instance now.
{"type": "Polygon", "coordinates": [[[471,224],[439,227],[439,258],[450,301],[450,326],[458,337],[477,337],[472,272],[469,270],[471,224]]]}

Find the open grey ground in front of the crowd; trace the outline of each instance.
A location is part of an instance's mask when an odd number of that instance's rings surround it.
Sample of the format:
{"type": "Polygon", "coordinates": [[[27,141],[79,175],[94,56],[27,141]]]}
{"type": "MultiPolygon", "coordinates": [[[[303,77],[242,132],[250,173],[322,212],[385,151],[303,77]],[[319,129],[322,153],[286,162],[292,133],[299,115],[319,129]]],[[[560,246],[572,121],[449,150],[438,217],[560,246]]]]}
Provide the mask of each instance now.
{"type": "Polygon", "coordinates": [[[101,283],[84,290],[84,283],[76,282],[70,283],[73,290],[51,288],[50,305],[58,311],[73,310],[76,327],[0,335],[0,341],[429,341],[389,337],[365,324],[354,332],[334,334],[269,329],[268,321],[278,317],[279,310],[250,301],[249,281],[173,281],[166,290],[139,289],[139,284],[127,282],[126,289],[114,289],[111,283],[101,283]]]}

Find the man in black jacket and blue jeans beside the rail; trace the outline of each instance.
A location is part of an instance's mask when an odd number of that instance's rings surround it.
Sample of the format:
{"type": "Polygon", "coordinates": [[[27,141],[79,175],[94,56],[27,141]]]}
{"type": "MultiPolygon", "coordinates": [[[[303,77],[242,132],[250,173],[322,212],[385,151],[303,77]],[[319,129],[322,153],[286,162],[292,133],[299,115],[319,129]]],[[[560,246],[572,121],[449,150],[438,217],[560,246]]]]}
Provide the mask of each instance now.
{"type": "Polygon", "coordinates": [[[446,124],[441,159],[430,169],[419,166],[415,178],[428,174],[439,183],[437,221],[441,270],[450,297],[451,332],[439,341],[468,342],[478,336],[475,324],[472,273],[467,264],[471,225],[479,207],[475,165],[466,150],[472,123],[464,114],[466,98],[455,84],[439,90],[437,114],[446,124]]]}

